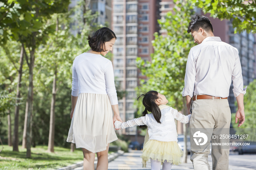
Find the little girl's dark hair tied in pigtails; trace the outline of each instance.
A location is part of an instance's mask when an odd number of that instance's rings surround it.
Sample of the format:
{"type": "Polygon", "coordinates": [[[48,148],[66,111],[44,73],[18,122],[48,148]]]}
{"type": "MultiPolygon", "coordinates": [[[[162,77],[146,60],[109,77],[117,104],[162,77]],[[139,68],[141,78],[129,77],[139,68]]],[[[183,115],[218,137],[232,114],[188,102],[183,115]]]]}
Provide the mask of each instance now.
{"type": "Polygon", "coordinates": [[[140,94],[137,98],[139,100],[140,97],[143,97],[142,103],[145,107],[145,110],[142,112],[143,116],[146,116],[147,111],[151,112],[158,123],[161,123],[161,110],[158,105],[155,103],[157,100],[158,92],[157,91],[149,91],[146,94],[140,94]]]}

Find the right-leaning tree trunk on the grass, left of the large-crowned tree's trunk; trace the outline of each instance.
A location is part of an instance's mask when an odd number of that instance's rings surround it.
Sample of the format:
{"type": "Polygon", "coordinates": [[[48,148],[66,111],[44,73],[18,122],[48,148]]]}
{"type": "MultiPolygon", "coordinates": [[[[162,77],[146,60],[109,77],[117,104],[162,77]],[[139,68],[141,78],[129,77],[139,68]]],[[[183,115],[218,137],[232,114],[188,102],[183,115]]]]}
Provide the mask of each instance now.
{"type": "Polygon", "coordinates": [[[19,105],[20,102],[20,87],[21,87],[21,77],[22,77],[22,66],[23,66],[23,58],[24,58],[24,48],[21,47],[20,50],[20,67],[19,67],[19,74],[18,74],[18,84],[16,88],[16,101],[15,101],[15,116],[14,116],[14,134],[13,134],[13,151],[19,151],[18,144],[19,144],[19,105]]]}

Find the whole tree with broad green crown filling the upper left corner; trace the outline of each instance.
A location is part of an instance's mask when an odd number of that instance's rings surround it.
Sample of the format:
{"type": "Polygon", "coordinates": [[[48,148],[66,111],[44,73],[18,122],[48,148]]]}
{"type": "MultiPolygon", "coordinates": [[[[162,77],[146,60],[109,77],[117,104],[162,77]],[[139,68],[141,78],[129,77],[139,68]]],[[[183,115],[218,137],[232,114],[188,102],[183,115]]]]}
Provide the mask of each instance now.
{"type": "MultiPolygon", "coordinates": [[[[0,38],[2,44],[8,39],[22,43],[29,66],[28,115],[27,115],[27,155],[31,157],[30,119],[33,112],[33,69],[34,54],[40,44],[54,31],[54,25],[47,23],[53,13],[65,12],[69,1],[52,0],[4,0],[0,3],[0,38]],[[29,53],[27,52],[29,51],[29,53]]],[[[18,138],[16,139],[18,140],[18,138]]],[[[16,142],[18,143],[18,142],[16,142]]],[[[14,146],[18,151],[18,146],[14,146]]]]}

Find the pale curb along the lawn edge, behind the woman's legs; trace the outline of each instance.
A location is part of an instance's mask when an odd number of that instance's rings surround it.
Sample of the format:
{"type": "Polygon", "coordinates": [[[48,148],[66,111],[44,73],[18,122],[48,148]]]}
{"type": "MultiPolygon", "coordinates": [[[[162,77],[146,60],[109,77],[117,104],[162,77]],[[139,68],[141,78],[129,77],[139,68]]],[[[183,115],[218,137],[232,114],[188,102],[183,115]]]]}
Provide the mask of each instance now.
{"type": "MultiPolygon", "coordinates": [[[[122,150],[118,150],[117,152],[111,153],[108,155],[108,161],[111,162],[114,159],[116,159],[118,156],[123,155],[123,154],[124,154],[124,151],[122,151],[122,150]]],[[[98,162],[98,159],[95,158],[95,161],[94,161],[94,169],[95,170],[97,167],[97,162],[98,162]]],[[[61,167],[59,169],[54,169],[54,170],[72,170],[72,169],[83,170],[83,161],[77,162],[77,163],[69,165],[69,166],[61,167]]]]}

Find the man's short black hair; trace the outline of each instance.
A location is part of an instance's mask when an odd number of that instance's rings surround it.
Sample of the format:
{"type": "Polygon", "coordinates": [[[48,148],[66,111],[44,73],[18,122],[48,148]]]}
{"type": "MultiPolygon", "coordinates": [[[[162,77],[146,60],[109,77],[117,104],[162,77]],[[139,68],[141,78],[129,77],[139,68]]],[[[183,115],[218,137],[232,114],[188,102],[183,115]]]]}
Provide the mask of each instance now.
{"type": "Polygon", "coordinates": [[[203,15],[196,15],[191,22],[189,22],[188,33],[192,31],[198,31],[199,28],[203,28],[205,31],[213,32],[211,21],[209,18],[203,15]]]}

